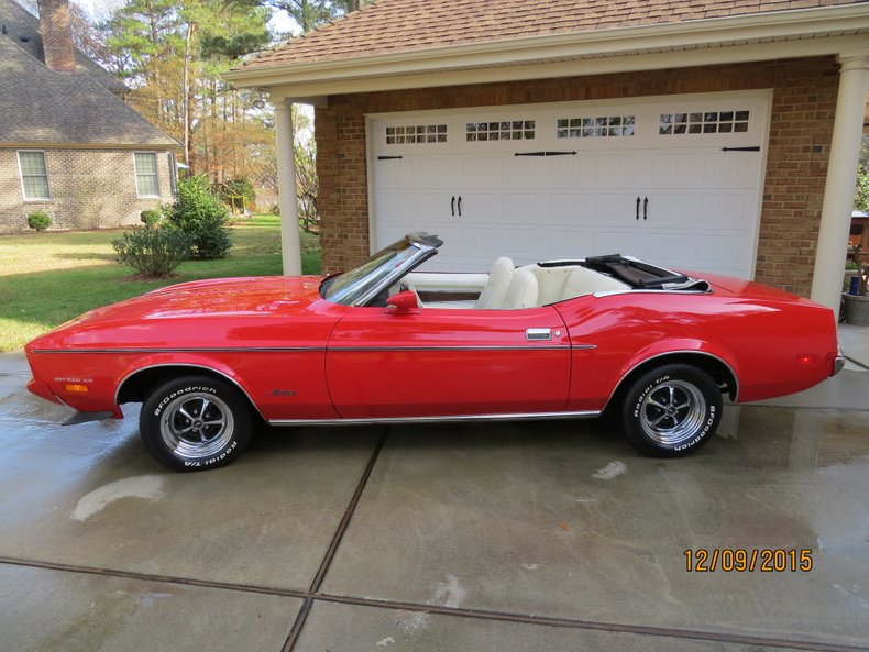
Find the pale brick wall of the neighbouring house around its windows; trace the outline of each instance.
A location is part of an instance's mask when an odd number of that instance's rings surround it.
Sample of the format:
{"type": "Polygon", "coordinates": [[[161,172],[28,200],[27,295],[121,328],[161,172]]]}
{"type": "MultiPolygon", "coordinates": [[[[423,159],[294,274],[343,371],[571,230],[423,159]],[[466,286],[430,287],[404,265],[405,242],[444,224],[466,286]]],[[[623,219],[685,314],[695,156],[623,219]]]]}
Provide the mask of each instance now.
{"type": "Polygon", "coordinates": [[[53,229],[105,229],[133,224],[139,223],[141,211],[172,200],[167,152],[157,152],[161,198],[140,199],[136,197],[132,151],[42,151],[45,152],[52,198],[25,201],[19,173],[19,150],[0,147],[0,233],[26,230],[28,214],[37,210],[54,218],[53,229]]]}

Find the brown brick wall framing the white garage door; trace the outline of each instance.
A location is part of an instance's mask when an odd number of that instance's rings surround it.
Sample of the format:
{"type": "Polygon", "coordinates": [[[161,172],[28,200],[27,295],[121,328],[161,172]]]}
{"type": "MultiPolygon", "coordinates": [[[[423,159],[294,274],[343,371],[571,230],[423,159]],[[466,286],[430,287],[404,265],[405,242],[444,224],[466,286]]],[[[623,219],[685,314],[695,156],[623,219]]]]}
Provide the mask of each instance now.
{"type": "Polygon", "coordinates": [[[323,269],[370,253],[364,115],[773,89],[757,279],[807,296],[838,90],[833,57],[332,96],[316,110],[323,269]]]}

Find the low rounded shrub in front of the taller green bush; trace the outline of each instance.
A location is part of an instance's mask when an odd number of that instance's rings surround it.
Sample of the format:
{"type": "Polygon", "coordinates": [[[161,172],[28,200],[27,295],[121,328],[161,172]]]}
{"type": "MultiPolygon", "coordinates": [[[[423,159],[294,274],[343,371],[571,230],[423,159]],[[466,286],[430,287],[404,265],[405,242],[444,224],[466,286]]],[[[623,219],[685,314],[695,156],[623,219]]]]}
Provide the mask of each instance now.
{"type": "Polygon", "coordinates": [[[154,278],[169,276],[190,253],[190,239],[186,233],[151,224],[133,226],[111,244],[118,252],[119,263],[154,278]]]}

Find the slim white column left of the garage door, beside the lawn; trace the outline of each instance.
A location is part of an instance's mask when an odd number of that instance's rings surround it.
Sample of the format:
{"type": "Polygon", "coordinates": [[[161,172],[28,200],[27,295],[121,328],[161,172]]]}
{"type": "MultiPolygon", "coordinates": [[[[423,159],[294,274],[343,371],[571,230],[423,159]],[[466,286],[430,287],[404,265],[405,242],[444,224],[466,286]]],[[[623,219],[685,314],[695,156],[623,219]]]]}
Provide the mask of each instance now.
{"type": "Polygon", "coordinates": [[[275,141],[277,146],[277,191],[280,194],[280,253],[284,274],[301,274],[299,209],[296,194],[296,157],[293,146],[292,104],[275,103],[275,141]]]}

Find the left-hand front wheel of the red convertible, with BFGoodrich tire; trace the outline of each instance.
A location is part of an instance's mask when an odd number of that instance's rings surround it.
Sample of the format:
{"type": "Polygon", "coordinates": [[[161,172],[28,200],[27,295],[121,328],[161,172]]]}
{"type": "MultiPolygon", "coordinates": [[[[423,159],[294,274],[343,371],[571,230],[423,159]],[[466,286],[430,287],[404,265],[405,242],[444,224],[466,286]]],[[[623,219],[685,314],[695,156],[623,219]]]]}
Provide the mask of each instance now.
{"type": "Polygon", "coordinates": [[[228,382],[208,376],[161,385],[139,417],[145,450],[178,471],[226,466],[250,442],[252,426],[244,396],[228,382]]]}

